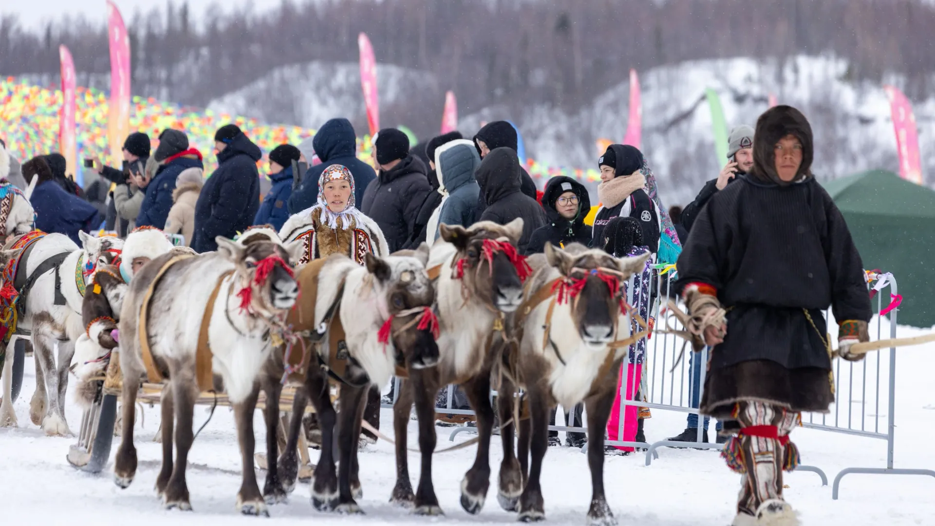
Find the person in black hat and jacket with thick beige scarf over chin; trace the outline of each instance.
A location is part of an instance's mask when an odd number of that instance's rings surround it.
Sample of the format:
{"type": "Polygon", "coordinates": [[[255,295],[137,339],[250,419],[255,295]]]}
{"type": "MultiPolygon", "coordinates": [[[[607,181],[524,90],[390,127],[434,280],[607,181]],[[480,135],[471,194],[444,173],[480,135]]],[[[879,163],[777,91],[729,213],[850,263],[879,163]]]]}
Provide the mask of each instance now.
{"type": "Polygon", "coordinates": [[[655,253],[659,249],[659,215],[645,190],[642,153],[630,145],[611,144],[597,160],[597,166],[601,181],[597,185],[597,197],[601,208],[594,219],[593,245],[603,246],[604,227],[612,218],[629,216],[640,222],[643,245],[655,253]]]}

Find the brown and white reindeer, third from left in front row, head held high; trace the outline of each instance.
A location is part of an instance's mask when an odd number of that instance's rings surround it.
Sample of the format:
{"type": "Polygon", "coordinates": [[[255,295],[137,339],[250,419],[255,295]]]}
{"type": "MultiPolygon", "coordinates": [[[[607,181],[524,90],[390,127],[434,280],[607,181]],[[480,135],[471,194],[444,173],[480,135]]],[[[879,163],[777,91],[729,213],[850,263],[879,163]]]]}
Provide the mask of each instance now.
{"type": "MultiPolygon", "coordinates": [[[[461,483],[461,505],[468,513],[476,514],[490,487],[489,450],[494,426],[491,369],[498,356],[492,349],[502,342],[506,314],[519,306],[523,282],[531,270],[515,248],[523,232],[522,219],[506,226],[486,221],[469,228],[441,225],[439,231],[428,264],[430,273],[438,272],[435,291],[441,327],[439,365],[411,372],[409,381],[400,388],[394,407],[396,487],[390,501],[413,507],[419,515],[443,513],[432,485],[432,454],[437,441],[435,400],[440,387],[454,384],[464,388],[477,415],[477,455],[461,483]],[[422,472],[415,493],[406,450],[413,402],[419,416],[422,451],[422,472]]],[[[498,404],[511,406],[512,401],[501,396],[498,404]]],[[[512,436],[512,424],[505,425],[502,433],[512,436]]],[[[511,464],[516,459],[504,457],[503,462],[511,464]]],[[[506,488],[508,495],[519,495],[522,481],[517,476],[506,488]]]]}

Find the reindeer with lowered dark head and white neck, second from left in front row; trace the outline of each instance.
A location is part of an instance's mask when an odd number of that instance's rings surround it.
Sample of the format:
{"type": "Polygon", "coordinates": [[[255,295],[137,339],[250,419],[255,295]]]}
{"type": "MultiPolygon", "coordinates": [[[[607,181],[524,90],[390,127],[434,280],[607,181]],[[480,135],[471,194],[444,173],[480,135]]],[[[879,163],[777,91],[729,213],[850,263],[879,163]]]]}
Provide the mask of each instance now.
{"type": "MultiPolygon", "coordinates": [[[[318,412],[323,438],[311,488],[316,509],[360,513],[355,502],[361,494],[357,437],[369,388],[385,385],[397,368],[411,372],[438,362],[434,339],[438,320],[430,310],[435,295],[425,271],[428,256],[428,245],[423,243],[418,250],[383,258],[367,254],[364,267],[345,256],[331,256],[298,272],[303,296],[289,316],[293,329],[315,330],[330,322],[327,344],[316,345],[317,362],[309,365],[305,374],[304,392],[318,412]],[[312,290],[317,294],[306,294],[312,290]],[[332,314],[333,321],[329,320],[332,314]],[[347,349],[343,360],[339,357],[342,344],[347,349]],[[329,397],[329,377],[339,385],[339,413],[329,397]],[[337,474],[333,450],[336,424],[337,474]]],[[[294,345],[291,353],[295,352],[294,345]]],[[[295,485],[295,446],[305,408],[304,400],[296,396],[296,402],[278,468],[289,486],[295,485]]],[[[429,418],[434,422],[434,415],[429,418]]],[[[270,442],[270,446],[275,444],[270,442]]],[[[274,475],[272,469],[270,475],[274,475]]]]}

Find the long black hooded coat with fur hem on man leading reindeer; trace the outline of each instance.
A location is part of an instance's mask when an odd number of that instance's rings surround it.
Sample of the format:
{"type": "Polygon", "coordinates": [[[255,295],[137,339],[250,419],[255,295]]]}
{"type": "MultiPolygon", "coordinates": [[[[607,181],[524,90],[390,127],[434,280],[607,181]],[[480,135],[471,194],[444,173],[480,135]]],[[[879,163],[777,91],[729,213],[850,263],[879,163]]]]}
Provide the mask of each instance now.
{"type": "Polygon", "coordinates": [[[841,212],[811,173],[812,128],[788,106],[760,116],[754,169],[698,212],[679,257],[676,288],[709,285],[727,310],[724,343],[709,358],[700,411],[730,419],[735,402],[793,412],[834,401],[822,311],[870,320],[863,264],[841,212]],[[798,175],[776,175],[773,147],[802,144],[798,175]]]}

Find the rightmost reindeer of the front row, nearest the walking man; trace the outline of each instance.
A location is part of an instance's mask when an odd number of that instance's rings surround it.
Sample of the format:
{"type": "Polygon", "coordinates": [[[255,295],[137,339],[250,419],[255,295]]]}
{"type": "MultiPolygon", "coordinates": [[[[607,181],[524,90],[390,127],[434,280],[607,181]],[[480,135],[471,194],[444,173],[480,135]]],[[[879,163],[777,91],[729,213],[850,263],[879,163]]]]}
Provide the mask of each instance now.
{"type": "MultiPolygon", "coordinates": [[[[547,243],[544,256],[530,258],[538,269],[512,320],[513,335],[520,340],[519,348],[511,351],[518,354],[504,360],[512,365],[506,366],[498,390],[501,399],[512,399],[514,387],[523,387],[528,400],[530,419],[519,426],[519,466],[504,462],[499,476],[501,494],[513,489],[506,481],[525,480],[518,502],[504,505],[519,511],[520,520],[545,519],[539,475],[548,449],[549,411],[556,402],[573,407],[584,401],[593,491],[588,523],[616,524],[604,496],[604,430],[621,360],[629,345],[646,335],[630,336],[632,321],[622,284],[645,269],[648,257],[618,259],[577,243],[564,251],[547,243]]],[[[500,410],[501,421],[520,417],[505,404],[500,410]]],[[[504,439],[503,447],[504,458],[512,458],[512,440],[504,439]]]]}

